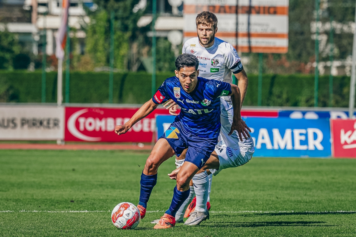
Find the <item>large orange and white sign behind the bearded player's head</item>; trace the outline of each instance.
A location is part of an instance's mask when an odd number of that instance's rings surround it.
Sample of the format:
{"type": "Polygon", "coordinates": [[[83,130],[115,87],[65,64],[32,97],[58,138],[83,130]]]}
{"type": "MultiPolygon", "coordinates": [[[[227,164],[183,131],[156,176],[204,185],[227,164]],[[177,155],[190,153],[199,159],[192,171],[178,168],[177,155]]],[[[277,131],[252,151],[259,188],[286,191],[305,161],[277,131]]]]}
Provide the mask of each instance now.
{"type": "Polygon", "coordinates": [[[237,43],[238,52],[287,53],[288,7],[289,0],[185,0],[183,41],[197,37],[195,17],[210,11],[218,17],[215,36],[237,43]]]}

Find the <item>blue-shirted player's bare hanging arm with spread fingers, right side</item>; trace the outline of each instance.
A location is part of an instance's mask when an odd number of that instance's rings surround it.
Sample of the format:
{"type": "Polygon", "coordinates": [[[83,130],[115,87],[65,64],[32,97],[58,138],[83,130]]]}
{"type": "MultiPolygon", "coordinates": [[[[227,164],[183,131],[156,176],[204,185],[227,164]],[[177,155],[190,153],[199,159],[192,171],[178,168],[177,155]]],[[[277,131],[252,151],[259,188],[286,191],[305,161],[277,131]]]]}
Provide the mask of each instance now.
{"type": "Polygon", "coordinates": [[[248,131],[251,132],[250,128],[246,125],[244,120],[241,118],[241,93],[240,89],[238,86],[234,84],[231,85],[231,101],[232,101],[232,107],[234,109],[234,117],[232,117],[232,124],[231,124],[231,130],[230,133],[228,134],[229,136],[234,132],[234,130],[237,131],[239,134],[240,140],[242,141],[242,136],[244,136],[245,139],[247,137],[250,137],[250,134],[248,131]]]}

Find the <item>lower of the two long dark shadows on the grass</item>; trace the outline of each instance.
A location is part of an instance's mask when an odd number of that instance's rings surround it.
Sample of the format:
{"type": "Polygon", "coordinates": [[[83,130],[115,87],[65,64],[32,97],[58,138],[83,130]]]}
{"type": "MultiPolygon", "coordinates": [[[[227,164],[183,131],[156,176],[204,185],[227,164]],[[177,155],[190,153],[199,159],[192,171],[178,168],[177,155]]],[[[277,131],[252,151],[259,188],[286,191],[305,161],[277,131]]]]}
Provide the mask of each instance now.
{"type": "Polygon", "coordinates": [[[325,225],[324,221],[253,221],[253,222],[217,222],[205,223],[209,227],[264,227],[264,226],[332,226],[325,225]]]}

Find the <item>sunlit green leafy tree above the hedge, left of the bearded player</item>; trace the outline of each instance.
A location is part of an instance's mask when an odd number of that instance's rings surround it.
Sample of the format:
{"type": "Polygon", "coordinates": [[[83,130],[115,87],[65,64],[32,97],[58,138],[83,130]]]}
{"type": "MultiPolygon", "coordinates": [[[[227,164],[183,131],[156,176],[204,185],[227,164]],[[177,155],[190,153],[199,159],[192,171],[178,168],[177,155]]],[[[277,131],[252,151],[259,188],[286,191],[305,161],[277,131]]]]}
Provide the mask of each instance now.
{"type": "Polygon", "coordinates": [[[138,1],[94,0],[98,10],[88,11],[91,22],[86,29],[86,51],[93,55],[96,66],[109,65],[110,12],[114,11],[114,66],[122,70],[137,70],[141,49],[149,42],[146,36],[149,26],[137,26],[145,10],[132,11],[138,1]],[[142,35],[145,38],[143,40],[142,35]]]}

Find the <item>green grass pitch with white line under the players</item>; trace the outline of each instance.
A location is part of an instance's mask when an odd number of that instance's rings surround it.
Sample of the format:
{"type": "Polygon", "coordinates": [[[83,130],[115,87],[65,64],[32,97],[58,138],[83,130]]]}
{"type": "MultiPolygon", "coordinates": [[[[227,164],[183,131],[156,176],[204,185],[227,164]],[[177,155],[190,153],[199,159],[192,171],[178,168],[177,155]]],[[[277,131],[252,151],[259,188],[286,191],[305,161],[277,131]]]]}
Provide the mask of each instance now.
{"type": "Polygon", "coordinates": [[[145,219],[118,230],[111,210],[137,204],[147,156],[0,150],[0,236],[356,236],[356,159],[252,158],[213,178],[210,220],[153,230],[172,199],[171,158],[145,219]]]}

